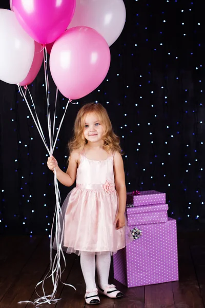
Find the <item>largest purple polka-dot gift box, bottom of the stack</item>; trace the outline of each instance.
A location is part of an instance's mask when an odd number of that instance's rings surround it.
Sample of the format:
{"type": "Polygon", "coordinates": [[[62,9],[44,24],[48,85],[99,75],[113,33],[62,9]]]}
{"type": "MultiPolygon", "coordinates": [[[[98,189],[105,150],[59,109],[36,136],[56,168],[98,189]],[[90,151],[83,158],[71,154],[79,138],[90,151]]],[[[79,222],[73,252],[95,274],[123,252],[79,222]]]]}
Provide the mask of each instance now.
{"type": "Polygon", "coordinates": [[[128,287],[178,280],[176,220],[130,227],[136,238],[114,256],[114,278],[128,287]]]}

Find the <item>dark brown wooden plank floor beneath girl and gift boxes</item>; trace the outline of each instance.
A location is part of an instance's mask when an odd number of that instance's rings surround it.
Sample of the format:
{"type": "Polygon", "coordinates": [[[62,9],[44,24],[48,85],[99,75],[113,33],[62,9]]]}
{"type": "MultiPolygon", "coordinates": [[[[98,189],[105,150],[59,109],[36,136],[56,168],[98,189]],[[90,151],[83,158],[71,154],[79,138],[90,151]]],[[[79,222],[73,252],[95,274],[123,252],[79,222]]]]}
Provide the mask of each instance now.
{"type": "MultiPolygon", "coordinates": [[[[49,239],[44,237],[0,237],[0,307],[23,308],[32,304],[17,304],[33,300],[35,285],[49,269],[49,239]]],[[[125,296],[121,299],[101,297],[102,308],[205,308],[205,232],[204,230],[178,231],[179,281],[127,288],[112,280],[125,296]]],[[[63,281],[75,285],[59,284],[56,305],[41,305],[43,308],[81,308],[85,304],[85,284],[81,274],[79,257],[67,255],[67,267],[63,281]]],[[[40,290],[38,288],[37,290],[40,290]]],[[[51,292],[51,283],[46,284],[51,292]]],[[[40,292],[40,291],[39,291],[40,292]]],[[[50,294],[50,293],[49,293],[50,294]]]]}

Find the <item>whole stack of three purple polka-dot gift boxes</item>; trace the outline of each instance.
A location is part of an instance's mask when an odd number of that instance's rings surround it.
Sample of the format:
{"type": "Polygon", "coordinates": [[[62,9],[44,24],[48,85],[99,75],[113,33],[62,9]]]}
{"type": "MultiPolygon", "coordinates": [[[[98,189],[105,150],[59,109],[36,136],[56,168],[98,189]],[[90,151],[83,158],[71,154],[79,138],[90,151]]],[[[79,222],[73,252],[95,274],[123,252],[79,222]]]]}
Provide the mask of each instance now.
{"type": "Polygon", "coordinates": [[[166,194],[127,194],[127,221],[133,241],[113,256],[114,278],[128,287],[178,280],[176,220],[169,218],[166,194]]]}

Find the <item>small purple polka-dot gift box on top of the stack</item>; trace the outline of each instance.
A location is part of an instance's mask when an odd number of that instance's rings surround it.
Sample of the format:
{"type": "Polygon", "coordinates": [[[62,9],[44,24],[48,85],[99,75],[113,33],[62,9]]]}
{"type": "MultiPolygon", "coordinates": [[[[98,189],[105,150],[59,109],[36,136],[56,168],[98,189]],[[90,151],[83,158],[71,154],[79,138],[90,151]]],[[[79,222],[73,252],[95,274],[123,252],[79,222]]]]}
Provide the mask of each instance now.
{"type": "Polygon", "coordinates": [[[156,190],[145,190],[127,193],[127,205],[139,206],[139,205],[151,205],[151,204],[164,204],[166,203],[166,194],[156,190]]]}

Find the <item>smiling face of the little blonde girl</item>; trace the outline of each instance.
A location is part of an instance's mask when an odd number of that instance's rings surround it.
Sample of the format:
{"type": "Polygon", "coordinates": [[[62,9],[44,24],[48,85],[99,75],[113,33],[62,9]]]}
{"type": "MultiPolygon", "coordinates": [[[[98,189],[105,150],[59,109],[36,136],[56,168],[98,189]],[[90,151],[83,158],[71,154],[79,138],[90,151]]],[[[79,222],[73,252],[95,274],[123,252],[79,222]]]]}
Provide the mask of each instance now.
{"type": "Polygon", "coordinates": [[[104,134],[104,127],[97,114],[88,113],[85,118],[84,137],[88,142],[99,142],[104,134]]]}

